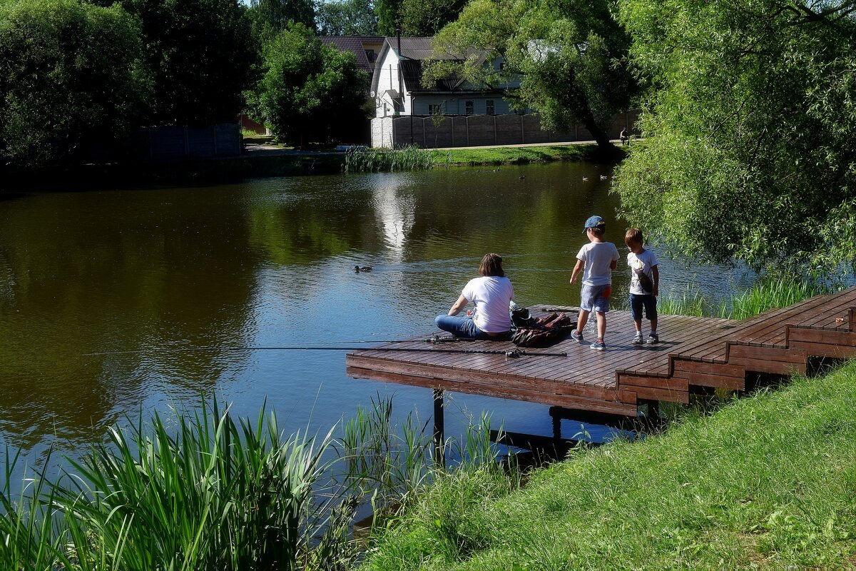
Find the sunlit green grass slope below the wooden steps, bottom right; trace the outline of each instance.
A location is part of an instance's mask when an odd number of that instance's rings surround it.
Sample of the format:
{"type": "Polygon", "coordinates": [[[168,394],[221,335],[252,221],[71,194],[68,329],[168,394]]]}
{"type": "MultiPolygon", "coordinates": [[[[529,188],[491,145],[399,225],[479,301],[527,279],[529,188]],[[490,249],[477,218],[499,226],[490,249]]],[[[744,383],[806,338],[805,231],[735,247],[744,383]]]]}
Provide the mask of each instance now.
{"type": "Polygon", "coordinates": [[[852,568],[856,364],[532,474],[449,477],[364,569],[852,568]]]}

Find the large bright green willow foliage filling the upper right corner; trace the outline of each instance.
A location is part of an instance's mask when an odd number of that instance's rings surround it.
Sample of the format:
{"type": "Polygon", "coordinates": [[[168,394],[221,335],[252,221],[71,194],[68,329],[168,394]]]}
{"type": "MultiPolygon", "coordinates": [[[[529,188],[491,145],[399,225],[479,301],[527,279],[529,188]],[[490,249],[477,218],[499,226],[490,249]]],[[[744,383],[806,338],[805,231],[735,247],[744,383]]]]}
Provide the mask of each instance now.
{"type": "Polygon", "coordinates": [[[622,0],[654,87],[615,178],[622,216],[703,261],[853,267],[854,8],[622,0]]]}

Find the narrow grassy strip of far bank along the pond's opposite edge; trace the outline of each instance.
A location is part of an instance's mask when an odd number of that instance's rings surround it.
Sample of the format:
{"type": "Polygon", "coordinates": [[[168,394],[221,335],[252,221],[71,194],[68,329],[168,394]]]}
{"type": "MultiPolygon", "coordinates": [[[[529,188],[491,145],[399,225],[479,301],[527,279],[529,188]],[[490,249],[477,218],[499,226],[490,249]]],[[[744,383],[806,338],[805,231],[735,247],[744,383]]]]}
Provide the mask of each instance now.
{"type": "Polygon", "coordinates": [[[461,147],[442,151],[407,147],[396,151],[366,148],[349,152],[249,153],[209,159],[7,168],[0,190],[204,185],[277,176],[600,160],[600,156],[594,144],[461,147]]]}

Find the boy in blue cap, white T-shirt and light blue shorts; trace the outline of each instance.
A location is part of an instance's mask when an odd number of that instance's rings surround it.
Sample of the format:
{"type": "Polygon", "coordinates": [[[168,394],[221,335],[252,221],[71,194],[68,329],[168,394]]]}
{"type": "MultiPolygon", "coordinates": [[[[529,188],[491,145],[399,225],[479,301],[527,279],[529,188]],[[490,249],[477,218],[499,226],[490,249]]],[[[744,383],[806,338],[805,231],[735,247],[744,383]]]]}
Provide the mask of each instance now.
{"type": "Polygon", "coordinates": [[[589,243],[580,248],[577,265],[574,265],[571,273],[573,284],[580,271],[583,272],[580,318],[571,336],[583,342],[583,328],[586,327],[589,313],[594,310],[597,315],[597,340],[589,347],[603,351],[606,349],[603,335],[606,333],[606,312],[609,311],[609,295],[612,293],[612,271],[618,265],[618,248],[612,242],[603,241],[606,223],[599,216],[589,217],[583,232],[588,236],[589,243]]]}

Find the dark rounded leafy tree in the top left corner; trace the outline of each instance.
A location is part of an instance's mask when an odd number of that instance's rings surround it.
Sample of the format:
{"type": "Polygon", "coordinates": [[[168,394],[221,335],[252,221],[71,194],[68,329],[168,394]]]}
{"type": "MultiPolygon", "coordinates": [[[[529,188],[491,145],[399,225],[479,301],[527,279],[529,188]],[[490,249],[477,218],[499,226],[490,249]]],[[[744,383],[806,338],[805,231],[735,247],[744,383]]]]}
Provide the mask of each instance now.
{"type": "Polygon", "coordinates": [[[152,94],[139,23],[117,5],[0,3],[0,68],[0,155],[15,164],[114,144],[152,94]]]}

